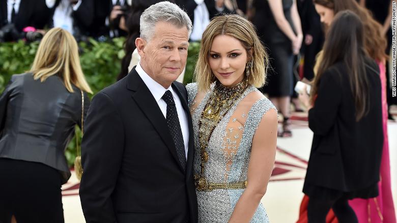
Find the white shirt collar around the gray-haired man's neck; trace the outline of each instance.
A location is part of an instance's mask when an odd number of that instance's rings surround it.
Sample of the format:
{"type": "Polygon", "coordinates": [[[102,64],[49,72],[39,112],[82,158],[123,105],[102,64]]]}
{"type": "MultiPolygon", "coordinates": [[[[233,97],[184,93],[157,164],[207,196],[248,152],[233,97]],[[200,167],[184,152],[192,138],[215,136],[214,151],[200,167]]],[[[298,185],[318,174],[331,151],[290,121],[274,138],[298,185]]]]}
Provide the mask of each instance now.
{"type": "Polygon", "coordinates": [[[140,66],[140,63],[138,63],[135,67],[136,72],[142,78],[142,80],[145,82],[145,85],[149,88],[149,91],[152,93],[154,99],[159,102],[161,100],[161,97],[164,95],[164,93],[169,90],[173,94],[174,100],[175,100],[175,93],[174,90],[171,86],[169,88],[165,89],[163,86],[161,86],[158,82],[156,82],[152,77],[150,77],[144,69],[140,66]]]}

